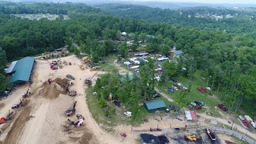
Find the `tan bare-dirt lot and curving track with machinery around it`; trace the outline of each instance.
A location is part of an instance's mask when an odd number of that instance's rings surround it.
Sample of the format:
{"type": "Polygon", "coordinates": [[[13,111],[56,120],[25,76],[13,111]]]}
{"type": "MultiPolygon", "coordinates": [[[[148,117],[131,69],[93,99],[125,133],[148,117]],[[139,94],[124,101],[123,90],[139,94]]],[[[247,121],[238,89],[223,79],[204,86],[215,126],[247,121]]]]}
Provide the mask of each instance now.
{"type": "MultiPolygon", "coordinates": [[[[17,90],[12,95],[8,96],[7,99],[1,100],[0,116],[5,116],[9,110],[12,111],[12,104],[18,103],[19,99],[22,99],[22,93],[26,92],[28,88],[29,92],[31,92],[29,97],[22,102],[24,106],[14,111],[12,120],[0,125],[0,144],[136,143],[136,140],[140,138],[140,134],[131,133],[131,129],[150,129],[150,127],[168,129],[186,125],[186,122],[163,117],[163,120],[160,120],[160,118],[158,120],[152,119],[139,127],[118,125],[118,127],[113,127],[116,130],[113,134],[103,131],[100,125],[92,118],[92,114],[86,104],[84,79],[90,79],[95,72],[80,70],[78,65],[81,64],[81,61],[76,56],[60,59],[67,61],[67,63],[71,62],[72,65],[65,65],[65,67],[58,70],[51,70],[50,61],[36,60],[32,74],[33,84],[17,86],[17,90]],[[70,90],[77,91],[76,97],[70,97],[66,94],[64,84],[67,81],[65,77],[67,74],[71,74],[76,78],[74,85],[70,86],[70,90]],[[53,80],[51,84],[47,83],[48,78],[53,80]],[[75,129],[73,126],[67,132],[65,131],[68,126],[67,119],[76,120],[76,116],[67,117],[65,111],[72,108],[74,101],[77,101],[76,114],[81,114],[85,118],[84,125],[79,129],[75,129]],[[119,132],[127,132],[127,137],[121,137],[119,132]]],[[[113,63],[113,65],[117,64],[113,63]]],[[[124,71],[122,68],[119,68],[119,70],[124,71]]],[[[103,72],[99,71],[98,74],[103,74],[103,72]]],[[[93,79],[97,78],[97,75],[93,79]]],[[[94,83],[95,81],[93,81],[94,83]]],[[[175,141],[175,138],[172,137],[173,134],[167,135],[170,141],[175,141]]],[[[183,140],[184,134],[180,136],[183,140]]],[[[227,138],[225,140],[228,140],[227,138]]],[[[224,140],[220,136],[220,141],[222,139],[224,140]]]]}

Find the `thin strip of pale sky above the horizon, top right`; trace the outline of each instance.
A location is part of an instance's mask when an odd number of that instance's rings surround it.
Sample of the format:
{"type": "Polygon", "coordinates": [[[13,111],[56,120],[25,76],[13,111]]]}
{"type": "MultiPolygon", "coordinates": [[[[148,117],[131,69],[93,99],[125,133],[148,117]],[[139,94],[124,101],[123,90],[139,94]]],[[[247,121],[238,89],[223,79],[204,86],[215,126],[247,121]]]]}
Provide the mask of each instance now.
{"type": "MultiPolygon", "coordinates": [[[[127,1],[127,0],[125,0],[127,1]]],[[[230,3],[256,4],[256,0],[132,0],[132,1],[168,1],[168,2],[195,2],[195,3],[230,3]]]]}

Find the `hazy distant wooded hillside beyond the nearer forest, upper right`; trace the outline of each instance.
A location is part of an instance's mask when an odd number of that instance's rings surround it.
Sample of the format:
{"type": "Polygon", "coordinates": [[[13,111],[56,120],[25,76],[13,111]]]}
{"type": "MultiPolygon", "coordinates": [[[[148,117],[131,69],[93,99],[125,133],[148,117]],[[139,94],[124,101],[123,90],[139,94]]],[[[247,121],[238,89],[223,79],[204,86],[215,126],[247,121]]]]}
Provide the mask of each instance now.
{"type": "Polygon", "coordinates": [[[225,31],[227,33],[256,38],[256,19],[253,11],[246,12],[228,8],[209,7],[189,8],[188,10],[162,10],[160,8],[132,4],[103,4],[97,7],[100,7],[100,10],[103,12],[119,17],[132,17],[134,19],[147,20],[147,22],[167,22],[168,24],[172,24],[172,26],[196,28],[205,31],[225,31]],[[195,17],[196,13],[204,15],[205,18],[195,17]],[[211,17],[206,17],[208,14],[219,16],[230,14],[236,15],[236,17],[216,21],[211,17]],[[188,17],[188,15],[191,15],[191,17],[188,17]]]}

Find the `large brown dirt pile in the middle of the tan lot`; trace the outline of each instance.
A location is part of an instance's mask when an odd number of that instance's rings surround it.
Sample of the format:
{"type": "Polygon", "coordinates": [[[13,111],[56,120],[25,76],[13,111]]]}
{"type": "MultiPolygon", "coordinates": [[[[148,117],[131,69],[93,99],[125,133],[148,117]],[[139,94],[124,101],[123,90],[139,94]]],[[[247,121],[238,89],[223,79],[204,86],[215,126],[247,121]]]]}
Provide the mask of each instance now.
{"type": "Polygon", "coordinates": [[[43,83],[43,89],[40,90],[38,96],[44,97],[45,99],[56,99],[60,94],[65,93],[65,83],[68,79],[55,79],[51,84],[48,82],[43,83]]]}

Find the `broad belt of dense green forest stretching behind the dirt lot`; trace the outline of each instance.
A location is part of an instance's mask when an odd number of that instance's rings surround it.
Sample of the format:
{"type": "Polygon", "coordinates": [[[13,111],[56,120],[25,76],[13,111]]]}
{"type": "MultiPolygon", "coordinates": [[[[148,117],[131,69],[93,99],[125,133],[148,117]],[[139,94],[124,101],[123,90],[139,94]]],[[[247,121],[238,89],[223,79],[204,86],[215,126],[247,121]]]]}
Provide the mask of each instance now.
{"type": "MultiPolygon", "coordinates": [[[[72,49],[72,51],[91,54],[95,62],[100,57],[107,56],[116,50],[118,54],[127,58],[128,45],[125,42],[115,42],[115,40],[119,40],[121,31],[126,31],[131,34],[130,39],[136,42],[146,40],[147,52],[168,54],[173,46],[176,49],[181,49],[186,55],[179,58],[177,68],[188,68],[188,71],[185,72],[186,77],[193,76],[196,69],[204,70],[205,76],[212,76],[213,84],[223,84],[225,94],[221,95],[221,98],[230,100],[230,104],[236,101],[236,106],[234,106],[236,111],[242,104],[244,97],[253,99],[252,104],[255,108],[253,102],[256,100],[254,95],[256,41],[253,38],[234,36],[234,34],[230,35],[223,31],[183,28],[166,22],[147,22],[116,17],[106,15],[90,6],[84,7],[83,10],[81,4],[65,3],[64,5],[66,4],[67,12],[70,13],[71,17],[68,20],[19,19],[14,15],[6,14],[12,13],[15,6],[11,6],[10,9],[5,6],[6,9],[4,10],[10,10],[10,12],[0,13],[0,92],[4,90],[6,84],[4,83],[3,68],[6,67],[7,61],[40,54],[44,51],[53,51],[65,44],[69,45],[68,49],[72,49]],[[147,35],[154,35],[156,38],[148,38],[147,35]],[[80,49],[72,47],[72,42],[79,45],[80,49]],[[229,97],[234,99],[229,99],[229,97]]],[[[36,9],[38,5],[40,3],[19,6],[24,9],[32,8],[31,12],[33,12],[33,8],[36,9]]],[[[42,5],[47,4],[42,3],[42,5]]],[[[49,4],[49,7],[52,11],[57,12],[61,7],[60,5],[62,4],[52,3],[49,4]]],[[[158,13],[161,13],[161,10],[158,13]]],[[[156,15],[151,15],[150,18],[154,19],[156,15]]],[[[196,20],[200,21],[201,19],[196,20]]],[[[191,19],[192,21],[193,19],[191,19]]],[[[186,22],[184,19],[184,24],[186,22]]],[[[213,22],[210,24],[214,25],[213,22]]],[[[166,68],[172,70],[173,65],[175,63],[168,63],[166,68]]],[[[166,76],[170,76],[173,72],[168,72],[166,76]]]]}

